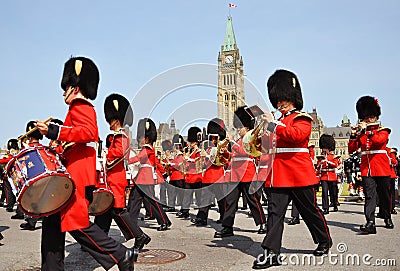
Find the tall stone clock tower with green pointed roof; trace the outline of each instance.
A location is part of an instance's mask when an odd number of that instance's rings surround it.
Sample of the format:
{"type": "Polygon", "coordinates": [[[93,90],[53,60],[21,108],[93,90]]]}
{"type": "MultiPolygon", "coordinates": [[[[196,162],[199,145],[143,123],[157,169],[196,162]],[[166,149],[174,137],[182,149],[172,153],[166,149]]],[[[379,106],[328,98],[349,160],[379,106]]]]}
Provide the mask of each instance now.
{"type": "Polygon", "coordinates": [[[227,132],[233,129],[233,115],[245,105],[243,59],[236,45],[232,17],[228,17],[224,44],[218,53],[218,117],[223,119],[227,132]]]}

